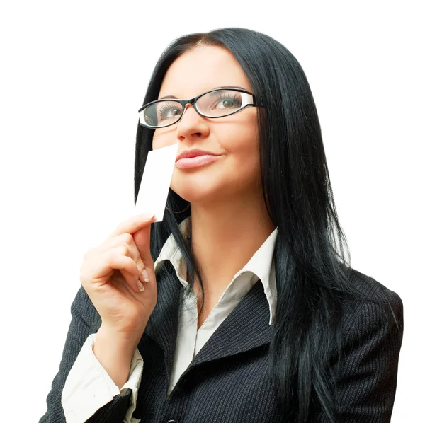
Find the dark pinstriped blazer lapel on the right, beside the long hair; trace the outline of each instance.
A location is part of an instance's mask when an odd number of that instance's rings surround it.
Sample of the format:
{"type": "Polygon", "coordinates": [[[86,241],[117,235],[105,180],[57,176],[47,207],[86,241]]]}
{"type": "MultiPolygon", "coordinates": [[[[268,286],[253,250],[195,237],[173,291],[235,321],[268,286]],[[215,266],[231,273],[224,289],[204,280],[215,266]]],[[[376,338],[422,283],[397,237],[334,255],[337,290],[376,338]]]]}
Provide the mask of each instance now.
{"type": "Polygon", "coordinates": [[[267,344],[272,337],[269,320],[268,301],[263,284],[259,280],[205,342],[186,371],[205,361],[220,359],[267,344]]]}

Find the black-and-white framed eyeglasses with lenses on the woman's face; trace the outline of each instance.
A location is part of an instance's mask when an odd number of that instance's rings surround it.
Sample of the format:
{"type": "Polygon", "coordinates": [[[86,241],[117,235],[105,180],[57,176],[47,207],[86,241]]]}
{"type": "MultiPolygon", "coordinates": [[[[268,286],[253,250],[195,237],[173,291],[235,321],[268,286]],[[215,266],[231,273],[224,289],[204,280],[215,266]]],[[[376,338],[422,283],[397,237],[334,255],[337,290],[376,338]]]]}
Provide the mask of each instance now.
{"type": "Polygon", "coordinates": [[[190,100],[151,101],[139,110],[140,124],[147,128],[169,127],[181,120],[186,104],[193,105],[199,115],[210,118],[234,115],[250,105],[261,107],[256,104],[254,94],[242,88],[216,88],[190,100]]]}

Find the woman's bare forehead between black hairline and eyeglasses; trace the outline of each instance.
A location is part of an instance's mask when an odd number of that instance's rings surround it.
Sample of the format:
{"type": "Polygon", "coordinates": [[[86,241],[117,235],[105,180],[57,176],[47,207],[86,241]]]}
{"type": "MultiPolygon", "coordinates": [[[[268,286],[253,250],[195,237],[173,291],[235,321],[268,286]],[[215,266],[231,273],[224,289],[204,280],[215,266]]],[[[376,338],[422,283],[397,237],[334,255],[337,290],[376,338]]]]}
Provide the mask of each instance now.
{"type": "Polygon", "coordinates": [[[193,98],[218,86],[252,91],[242,66],[225,47],[206,46],[183,53],[166,71],[158,98],[193,98]]]}

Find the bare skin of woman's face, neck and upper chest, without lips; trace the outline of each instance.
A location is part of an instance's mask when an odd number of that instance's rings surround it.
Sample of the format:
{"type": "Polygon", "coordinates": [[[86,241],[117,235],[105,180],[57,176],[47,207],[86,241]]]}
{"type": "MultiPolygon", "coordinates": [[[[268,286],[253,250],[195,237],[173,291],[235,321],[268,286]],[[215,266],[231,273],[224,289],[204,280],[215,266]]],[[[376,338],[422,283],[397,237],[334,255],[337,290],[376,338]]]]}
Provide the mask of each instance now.
{"type": "MultiPolygon", "coordinates": [[[[193,98],[218,86],[253,92],[239,62],[225,47],[203,46],[182,54],[169,67],[158,98],[193,98]]],[[[171,189],[191,202],[193,254],[203,271],[205,311],[198,328],[234,275],[274,230],[261,194],[258,108],[220,119],[198,115],[186,106],[182,119],[156,129],[153,149],[179,141],[179,151],[203,149],[221,154],[192,169],[174,167],[171,189]]],[[[198,284],[195,291],[200,298],[198,284]]]]}

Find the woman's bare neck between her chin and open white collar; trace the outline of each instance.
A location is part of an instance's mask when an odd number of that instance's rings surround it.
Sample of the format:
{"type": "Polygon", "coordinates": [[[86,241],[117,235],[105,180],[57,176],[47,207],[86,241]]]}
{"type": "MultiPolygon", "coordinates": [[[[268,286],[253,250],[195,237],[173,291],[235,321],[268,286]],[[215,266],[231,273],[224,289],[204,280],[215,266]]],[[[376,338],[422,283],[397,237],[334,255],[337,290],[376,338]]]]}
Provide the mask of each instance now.
{"type": "Polygon", "coordinates": [[[193,255],[205,294],[220,297],[275,229],[259,196],[214,204],[191,203],[193,255]]]}

